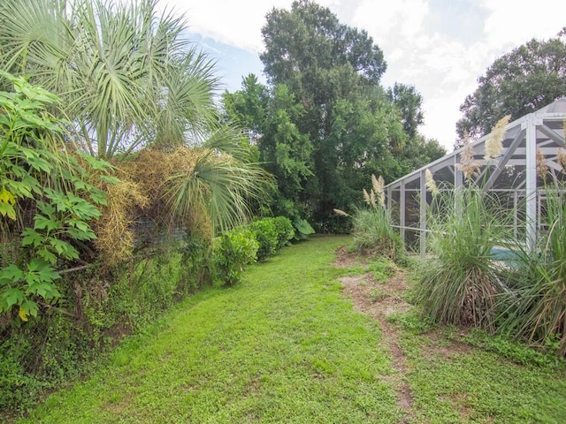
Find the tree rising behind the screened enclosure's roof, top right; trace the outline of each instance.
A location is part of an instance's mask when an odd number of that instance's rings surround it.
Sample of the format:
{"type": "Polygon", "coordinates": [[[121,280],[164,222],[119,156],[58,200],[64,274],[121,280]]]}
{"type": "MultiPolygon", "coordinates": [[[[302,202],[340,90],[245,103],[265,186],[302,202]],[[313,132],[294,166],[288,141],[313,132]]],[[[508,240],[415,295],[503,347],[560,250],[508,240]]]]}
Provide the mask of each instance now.
{"type": "Polygon", "coordinates": [[[478,79],[478,88],[460,106],[460,139],[488,133],[506,115],[532,113],[566,95],[566,34],[532,41],[496,59],[478,79]]]}

